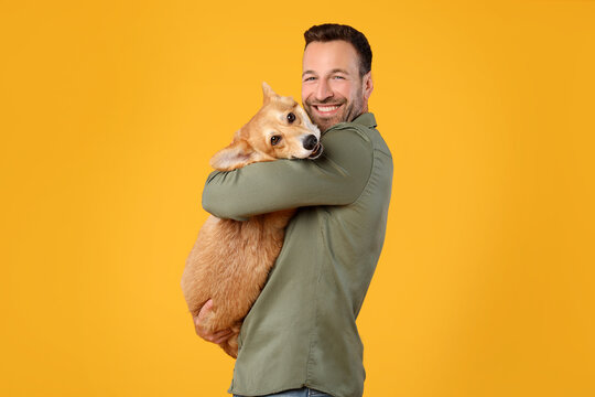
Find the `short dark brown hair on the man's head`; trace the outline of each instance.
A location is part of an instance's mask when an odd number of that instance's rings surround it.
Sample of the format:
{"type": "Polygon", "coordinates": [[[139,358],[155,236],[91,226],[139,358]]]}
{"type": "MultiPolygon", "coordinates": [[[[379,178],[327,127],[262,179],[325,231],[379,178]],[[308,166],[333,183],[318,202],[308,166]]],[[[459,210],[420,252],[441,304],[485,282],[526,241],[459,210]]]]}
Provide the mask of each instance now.
{"type": "Polygon", "coordinates": [[[359,55],[359,77],[371,71],[371,49],[364,33],[349,25],[325,23],[314,25],[304,32],[306,45],[312,42],[344,40],[350,43],[359,55]]]}

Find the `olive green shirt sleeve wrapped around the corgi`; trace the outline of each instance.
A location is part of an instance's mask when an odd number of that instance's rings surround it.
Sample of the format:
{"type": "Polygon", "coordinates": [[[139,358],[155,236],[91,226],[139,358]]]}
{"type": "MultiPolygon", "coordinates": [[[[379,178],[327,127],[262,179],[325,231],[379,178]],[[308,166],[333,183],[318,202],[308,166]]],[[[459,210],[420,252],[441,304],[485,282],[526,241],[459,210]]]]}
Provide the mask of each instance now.
{"type": "Polygon", "coordinates": [[[203,207],[220,218],[250,216],[310,205],[345,205],[359,197],[372,167],[372,143],[355,127],[327,131],[316,160],[277,160],[213,172],[203,207]]]}

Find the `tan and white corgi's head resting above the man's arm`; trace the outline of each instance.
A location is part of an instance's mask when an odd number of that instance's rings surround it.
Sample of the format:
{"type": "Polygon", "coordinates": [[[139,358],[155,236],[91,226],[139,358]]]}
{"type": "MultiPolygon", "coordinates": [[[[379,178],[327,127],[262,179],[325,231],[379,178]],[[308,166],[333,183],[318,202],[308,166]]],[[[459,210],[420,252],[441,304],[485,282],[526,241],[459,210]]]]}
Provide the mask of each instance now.
{"type": "Polygon", "coordinates": [[[230,171],[277,159],[317,158],[322,153],[321,131],[291,97],[275,94],[262,83],[260,110],[236,132],[234,142],[210,159],[210,165],[230,171]]]}

